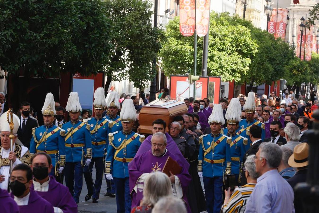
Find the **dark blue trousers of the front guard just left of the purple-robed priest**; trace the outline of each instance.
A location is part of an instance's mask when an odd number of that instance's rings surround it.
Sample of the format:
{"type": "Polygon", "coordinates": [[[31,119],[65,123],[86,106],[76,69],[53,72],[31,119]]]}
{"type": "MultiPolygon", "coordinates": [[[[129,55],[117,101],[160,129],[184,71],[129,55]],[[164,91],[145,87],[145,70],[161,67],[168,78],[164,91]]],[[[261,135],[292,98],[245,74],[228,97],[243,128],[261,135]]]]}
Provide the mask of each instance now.
{"type": "Polygon", "coordinates": [[[129,178],[114,178],[117,213],[131,212],[129,178]]]}

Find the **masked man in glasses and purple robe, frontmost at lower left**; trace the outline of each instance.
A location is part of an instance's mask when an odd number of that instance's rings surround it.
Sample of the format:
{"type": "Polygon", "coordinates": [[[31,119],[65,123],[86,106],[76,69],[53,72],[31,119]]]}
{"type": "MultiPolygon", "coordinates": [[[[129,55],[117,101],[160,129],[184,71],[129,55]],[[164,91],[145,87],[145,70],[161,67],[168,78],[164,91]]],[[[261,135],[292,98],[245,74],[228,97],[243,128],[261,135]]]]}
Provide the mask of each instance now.
{"type": "Polygon", "coordinates": [[[19,206],[20,213],[54,213],[53,206],[30,189],[32,170],[26,164],[19,164],[12,169],[10,177],[11,197],[19,206]]]}

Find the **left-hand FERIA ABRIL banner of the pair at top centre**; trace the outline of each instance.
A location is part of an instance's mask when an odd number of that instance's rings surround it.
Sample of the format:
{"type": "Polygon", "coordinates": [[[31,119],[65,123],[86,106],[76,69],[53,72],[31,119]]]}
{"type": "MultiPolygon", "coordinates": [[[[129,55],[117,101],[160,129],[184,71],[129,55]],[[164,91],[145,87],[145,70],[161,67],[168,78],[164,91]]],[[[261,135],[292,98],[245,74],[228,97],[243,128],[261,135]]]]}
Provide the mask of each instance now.
{"type": "Polygon", "coordinates": [[[191,36],[195,32],[195,0],[180,1],[180,33],[191,36]]]}

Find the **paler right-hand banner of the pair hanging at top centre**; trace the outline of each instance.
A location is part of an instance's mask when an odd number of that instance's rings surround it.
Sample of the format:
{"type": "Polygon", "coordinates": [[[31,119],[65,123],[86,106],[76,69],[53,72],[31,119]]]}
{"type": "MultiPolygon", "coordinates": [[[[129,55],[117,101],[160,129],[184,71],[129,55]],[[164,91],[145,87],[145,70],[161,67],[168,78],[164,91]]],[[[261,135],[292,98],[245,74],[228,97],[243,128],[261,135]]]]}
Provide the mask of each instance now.
{"type": "Polygon", "coordinates": [[[199,37],[208,32],[210,5],[210,0],[196,0],[196,32],[199,37]]]}

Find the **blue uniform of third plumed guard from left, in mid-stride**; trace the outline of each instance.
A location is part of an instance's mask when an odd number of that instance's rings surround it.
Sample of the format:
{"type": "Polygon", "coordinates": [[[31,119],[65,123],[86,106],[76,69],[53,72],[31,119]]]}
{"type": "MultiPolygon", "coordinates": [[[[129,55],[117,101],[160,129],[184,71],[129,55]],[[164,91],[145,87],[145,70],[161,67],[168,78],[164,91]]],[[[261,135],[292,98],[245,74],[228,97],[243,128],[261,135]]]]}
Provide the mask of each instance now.
{"type": "Polygon", "coordinates": [[[92,144],[92,161],[89,166],[85,166],[83,174],[88,190],[88,194],[93,194],[93,199],[98,199],[102,178],[103,178],[103,155],[104,150],[107,150],[107,135],[108,135],[108,122],[109,120],[105,117],[100,119],[97,118],[88,118],[86,119],[87,124],[90,126],[91,133],[91,144],[92,144]],[[93,186],[92,183],[92,170],[93,164],[95,163],[95,183],[93,186]]]}

